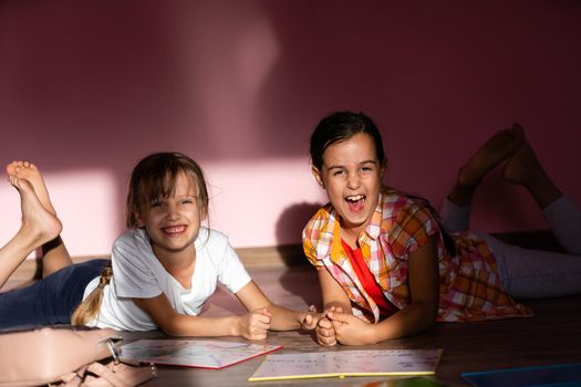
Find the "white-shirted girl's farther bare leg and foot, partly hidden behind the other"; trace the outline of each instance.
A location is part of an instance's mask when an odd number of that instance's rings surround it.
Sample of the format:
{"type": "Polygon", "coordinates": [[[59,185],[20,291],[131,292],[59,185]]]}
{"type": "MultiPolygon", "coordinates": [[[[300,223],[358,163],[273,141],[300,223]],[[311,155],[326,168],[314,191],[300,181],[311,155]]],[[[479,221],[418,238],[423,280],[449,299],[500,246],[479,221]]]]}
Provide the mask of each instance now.
{"type": "MultiPolygon", "coordinates": [[[[44,209],[56,216],[42,174],[34,164],[29,161],[12,161],[7,166],[7,172],[9,176],[17,176],[20,179],[29,181],[44,209]]],[[[72,263],[71,255],[69,251],[66,251],[66,247],[60,236],[42,244],[42,257],[43,276],[72,263]]]]}

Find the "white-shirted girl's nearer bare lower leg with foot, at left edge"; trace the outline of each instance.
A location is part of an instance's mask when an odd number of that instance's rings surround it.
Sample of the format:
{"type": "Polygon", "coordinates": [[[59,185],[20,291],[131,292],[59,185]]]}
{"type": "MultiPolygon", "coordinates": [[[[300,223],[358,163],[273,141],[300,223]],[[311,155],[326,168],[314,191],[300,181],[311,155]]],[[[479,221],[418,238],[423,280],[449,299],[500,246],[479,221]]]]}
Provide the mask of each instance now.
{"type": "Polygon", "coordinates": [[[0,286],[32,251],[53,240],[62,230],[59,219],[42,206],[28,180],[14,175],[9,180],[20,194],[22,224],[17,234],[0,249],[0,286]]]}

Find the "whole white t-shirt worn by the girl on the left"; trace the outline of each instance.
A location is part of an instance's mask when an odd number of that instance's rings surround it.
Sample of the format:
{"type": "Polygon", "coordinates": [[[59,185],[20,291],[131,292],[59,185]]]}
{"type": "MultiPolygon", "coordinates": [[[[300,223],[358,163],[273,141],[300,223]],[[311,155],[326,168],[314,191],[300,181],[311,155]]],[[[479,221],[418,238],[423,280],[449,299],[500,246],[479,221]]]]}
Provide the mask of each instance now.
{"type": "MultiPolygon", "coordinates": [[[[152,331],[157,324],[132,301],[165,293],[177,313],[197,315],[220,281],[236,293],[250,282],[250,275],[221,232],[200,228],[191,289],[184,289],[155,257],[149,237],[142,229],[128,230],[113,244],[113,278],[103,293],[100,314],[89,326],[120,331],[152,331]]],[[[86,286],[86,297],[98,285],[98,278],[86,286]]]]}

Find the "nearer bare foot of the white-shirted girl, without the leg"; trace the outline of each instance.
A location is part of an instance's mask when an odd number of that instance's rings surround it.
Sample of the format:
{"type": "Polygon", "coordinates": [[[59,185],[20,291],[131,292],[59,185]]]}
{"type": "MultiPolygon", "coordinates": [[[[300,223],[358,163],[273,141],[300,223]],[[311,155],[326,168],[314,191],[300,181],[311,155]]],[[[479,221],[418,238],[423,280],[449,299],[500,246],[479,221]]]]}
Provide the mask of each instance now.
{"type": "Polygon", "coordinates": [[[14,175],[9,180],[20,194],[22,224],[19,233],[37,247],[55,239],[62,230],[61,221],[40,202],[32,184],[14,175]]]}

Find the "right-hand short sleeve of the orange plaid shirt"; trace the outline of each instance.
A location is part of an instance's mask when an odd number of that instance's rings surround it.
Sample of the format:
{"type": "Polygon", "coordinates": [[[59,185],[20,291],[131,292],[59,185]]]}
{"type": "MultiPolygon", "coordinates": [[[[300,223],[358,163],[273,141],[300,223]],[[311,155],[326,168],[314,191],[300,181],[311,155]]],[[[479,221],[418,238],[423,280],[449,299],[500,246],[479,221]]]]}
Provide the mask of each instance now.
{"type": "Polygon", "coordinates": [[[397,213],[387,239],[394,254],[405,258],[438,232],[438,222],[429,208],[424,202],[409,201],[397,213]]]}

